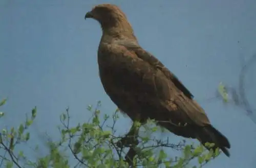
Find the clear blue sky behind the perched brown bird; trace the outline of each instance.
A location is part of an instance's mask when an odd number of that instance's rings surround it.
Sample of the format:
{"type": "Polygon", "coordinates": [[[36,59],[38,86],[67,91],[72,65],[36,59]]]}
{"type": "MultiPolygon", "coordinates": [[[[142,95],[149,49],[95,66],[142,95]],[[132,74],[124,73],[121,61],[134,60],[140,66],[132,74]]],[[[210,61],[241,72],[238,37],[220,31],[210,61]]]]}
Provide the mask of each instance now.
{"type": "MultiPolygon", "coordinates": [[[[0,126],[18,126],[37,106],[32,133],[47,131],[58,137],[59,114],[68,106],[73,124],[87,121],[87,105],[98,100],[103,112],[115,110],[98,77],[100,26],[84,20],[86,12],[101,3],[121,7],[141,46],[179,77],[212,125],[229,138],[231,157],[220,156],[205,167],[255,167],[255,124],[241,108],[207,101],[215,97],[221,81],[237,87],[243,61],[256,53],[253,0],[2,0],[0,98],[8,97],[8,103],[1,109],[6,117],[0,126]]],[[[255,73],[246,76],[249,100],[255,100],[255,78],[255,73]]],[[[121,133],[130,128],[128,118],[118,124],[121,133]]]]}

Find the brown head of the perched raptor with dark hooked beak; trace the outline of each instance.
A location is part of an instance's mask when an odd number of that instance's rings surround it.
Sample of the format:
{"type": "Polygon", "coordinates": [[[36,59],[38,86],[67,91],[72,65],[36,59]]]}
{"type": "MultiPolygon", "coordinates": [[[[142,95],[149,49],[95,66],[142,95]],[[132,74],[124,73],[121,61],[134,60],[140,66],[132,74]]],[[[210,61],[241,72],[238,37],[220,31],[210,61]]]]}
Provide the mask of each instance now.
{"type": "Polygon", "coordinates": [[[133,33],[132,26],[121,9],[112,4],[100,4],[87,12],[85,19],[93,18],[97,20],[103,30],[116,29],[119,31],[130,31],[133,33]]]}

